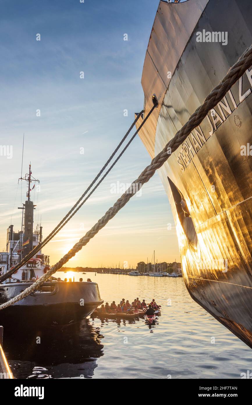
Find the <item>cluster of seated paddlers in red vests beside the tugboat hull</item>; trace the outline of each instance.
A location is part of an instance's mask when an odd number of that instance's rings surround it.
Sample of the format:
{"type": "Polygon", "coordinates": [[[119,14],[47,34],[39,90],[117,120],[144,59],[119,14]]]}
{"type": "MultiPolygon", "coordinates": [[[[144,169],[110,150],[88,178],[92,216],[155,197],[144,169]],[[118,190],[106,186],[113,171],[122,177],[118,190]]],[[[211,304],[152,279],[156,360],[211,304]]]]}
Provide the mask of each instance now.
{"type": "Polygon", "coordinates": [[[159,309],[159,306],[157,305],[155,299],[153,298],[150,304],[146,304],[145,300],[142,301],[142,303],[139,301],[139,298],[135,298],[132,303],[129,303],[129,300],[125,301],[125,298],[123,298],[120,301],[120,304],[115,303],[113,301],[110,305],[109,303],[106,303],[105,305],[102,304],[100,308],[97,309],[99,312],[110,312],[110,311],[117,311],[117,312],[127,312],[127,311],[132,311],[136,309],[147,309],[147,307],[154,309],[155,311],[159,309]]]}

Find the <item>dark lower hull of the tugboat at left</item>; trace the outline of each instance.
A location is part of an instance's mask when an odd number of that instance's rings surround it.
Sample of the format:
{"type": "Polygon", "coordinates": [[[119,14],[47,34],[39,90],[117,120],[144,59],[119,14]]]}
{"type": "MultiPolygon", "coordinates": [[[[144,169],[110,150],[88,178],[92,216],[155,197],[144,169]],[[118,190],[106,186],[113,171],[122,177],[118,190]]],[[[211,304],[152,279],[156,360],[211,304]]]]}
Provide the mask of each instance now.
{"type": "MultiPolygon", "coordinates": [[[[9,301],[31,283],[11,283],[0,286],[0,303],[9,301]]],[[[64,326],[89,316],[103,303],[93,282],[45,282],[40,290],[0,311],[0,324],[17,322],[27,327],[64,326]]]]}

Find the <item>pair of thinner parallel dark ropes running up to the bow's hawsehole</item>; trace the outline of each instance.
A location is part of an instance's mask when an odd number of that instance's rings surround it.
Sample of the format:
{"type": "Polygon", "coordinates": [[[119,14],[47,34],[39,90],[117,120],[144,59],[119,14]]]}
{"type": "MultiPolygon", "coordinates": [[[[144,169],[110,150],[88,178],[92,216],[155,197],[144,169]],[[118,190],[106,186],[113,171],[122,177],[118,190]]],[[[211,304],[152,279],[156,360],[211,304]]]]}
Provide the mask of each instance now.
{"type": "MultiPolygon", "coordinates": [[[[150,114],[152,113],[154,107],[152,107],[150,114]]],[[[28,260],[30,260],[31,258],[34,257],[34,255],[36,253],[38,253],[40,251],[40,249],[42,249],[42,247],[44,247],[49,241],[51,241],[51,239],[53,239],[53,237],[63,228],[63,226],[65,226],[68,221],[73,217],[73,215],[80,209],[80,207],[83,206],[83,204],[87,201],[87,199],[91,196],[91,194],[93,194],[93,192],[97,189],[97,187],[100,185],[101,181],[99,181],[98,184],[95,185],[95,187],[93,188],[93,190],[89,193],[89,195],[85,198],[85,200],[77,207],[77,205],[80,203],[80,201],[85,197],[85,195],[89,192],[89,190],[92,188],[92,186],[95,184],[95,182],[97,181],[97,179],[100,177],[100,175],[104,172],[104,170],[106,169],[106,167],[108,166],[108,164],[111,162],[112,158],[114,157],[114,155],[116,154],[116,152],[119,150],[119,148],[121,147],[121,145],[123,144],[123,142],[125,141],[125,139],[127,138],[127,136],[129,135],[129,132],[131,132],[132,128],[136,125],[136,123],[138,122],[138,119],[141,117],[142,113],[144,111],[142,110],[140,113],[138,113],[138,115],[136,116],[135,121],[131,124],[130,128],[127,130],[126,134],[123,136],[123,139],[120,141],[120,143],[117,145],[116,149],[113,151],[113,153],[111,154],[111,156],[108,158],[107,162],[104,164],[104,166],[101,168],[100,172],[97,174],[97,176],[93,179],[92,183],[89,184],[88,188],[85,190],[85,192],[82,194],[82,196],[78,199],[78,201],[74,204],[74,206],[70,209],[70,211],[68,211],[68,213],[65,215],[65,217],[63,218],[63,220],[61,220],[61,222],[59,222],[59,224],[57,226],[55,226],[55,228],[52,230],[52,232],[42,241],[42,243],[38,244],[37,246],[35,246],[31,252],[29,252],[21,261],[19,264],[16,264],[16,266],[14,266],[11,270],[9,270],[8,272],[4,273],[4,275],[0,276],[0,283],[4,280],[6,280],[7,278],[9,278],[13,273],[15,273],[15,271],[17,271],[18,269],[20,269],[20,267],[22,267],[25,263],[28,262],[28,260]],[[76,208],[77,207],[77,208],[76,208]],[[76,208],[76,210],[72,213],[72,211],[76,208]],[[69,215],[72,213],[72,215],[69,217],[69,215]]],[[[147,115],[147,117],[144,119],[144,122],[148,119],[149,115],[147,115]]],[[[121,158],[122,154],[125,152],[125,150],[127,149],[127,147],[129,146],[129,144],[133,141],[133,139],[135,138],[136,134],[138,134],[138,131],[142,128],[142,125],[144,124],[144,122],[142,122],[140,128],[138,128],[138,130],[133,134],[131,140],[129,141],[129,143],[127,143],[126,147],[123,149],[123,151],[120,153],[119,157],[116,158],[116,161],[110,166],[110,168],[108,169],[108,171],[106,171],[105,175],[102,177],[102,180],[108,175],[108,173],[110,172],[110,170],[114,167],[115,163],[119,160],[119,158],[121,158]]]]}

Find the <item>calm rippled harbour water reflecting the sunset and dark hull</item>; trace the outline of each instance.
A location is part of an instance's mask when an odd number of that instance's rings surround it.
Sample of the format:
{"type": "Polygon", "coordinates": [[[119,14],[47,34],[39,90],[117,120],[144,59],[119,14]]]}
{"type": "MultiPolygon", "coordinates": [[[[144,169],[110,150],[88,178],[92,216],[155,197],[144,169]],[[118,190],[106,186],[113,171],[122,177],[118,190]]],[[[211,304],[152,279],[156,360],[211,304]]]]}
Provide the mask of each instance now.
{"type": "Polygon", "coordinates": [[[182,278],[74,273],[79,277],[97,282],[104,302],[155,298],[161,316],[152,327],[141,318],[89,317],[64,330],[16,331],[4,340],[15,377],[214,379],[252,370],[252,350],[192,300],[182,278]]]}

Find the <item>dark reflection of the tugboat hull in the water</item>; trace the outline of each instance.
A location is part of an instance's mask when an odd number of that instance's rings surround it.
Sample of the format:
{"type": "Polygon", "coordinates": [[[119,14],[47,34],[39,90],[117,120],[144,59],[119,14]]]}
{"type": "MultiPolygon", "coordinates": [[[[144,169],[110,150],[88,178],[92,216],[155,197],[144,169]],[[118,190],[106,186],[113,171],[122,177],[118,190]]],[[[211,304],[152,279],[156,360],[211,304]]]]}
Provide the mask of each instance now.
{"type": "MultiPolygon", "coordinates": [[[[7,332],[7,331],[6,331],[7,332]]],[[[87,319],[68,328],[4,334],[4,348],[16,378],[91,378],[103,355],[100,328],[87,319]]]]}

